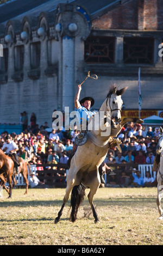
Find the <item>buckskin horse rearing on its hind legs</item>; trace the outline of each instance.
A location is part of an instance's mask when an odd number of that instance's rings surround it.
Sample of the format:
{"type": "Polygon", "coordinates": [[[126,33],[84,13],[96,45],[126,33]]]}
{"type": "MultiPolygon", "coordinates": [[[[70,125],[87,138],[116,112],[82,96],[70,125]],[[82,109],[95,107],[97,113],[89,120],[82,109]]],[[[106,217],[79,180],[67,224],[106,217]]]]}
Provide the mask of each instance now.
{"type": "Polygon", "coordinates": [[[72,222],[76,221],[78,208],[85,196],[85,188],[90,189],[87,197],[91,205],[95,223],[99,222],[97,212],[93,205],[93,197],[101,184],[98,167],[104,161],[106,154],[108,153],[110,138],[116,137],[128,121],[134,121],[135,123],[140,124],[143,123],[141,119],[124,118],[122,121],[119,121],[116,129],[111,129],[111,133],[107,136],[104,134],[102,136],[102,132],[110,125],[110,119],[114,118],[116,121],[121,119],[121,108],[123,103],[121,95],[126,89],[127,87],[117,89],[115,85],[110,88],[109,93],[98,112],[104,113],[104,117],[100,120],[101,124],[99,125],[99,130],[95,129],[96,124],[94,123],[92,125],[92,130],[87,132],[86,143],[78,146],[76,153],[73,155],[66,178],[66,193],[61,209],[58,212],[58,216],[55,218],[55,223],[60,221],[62,211],[71,191],[72,210],[70,220],[72,222]],[[107,121],[106,118],[108,118],[109,121],[107,121]]]}

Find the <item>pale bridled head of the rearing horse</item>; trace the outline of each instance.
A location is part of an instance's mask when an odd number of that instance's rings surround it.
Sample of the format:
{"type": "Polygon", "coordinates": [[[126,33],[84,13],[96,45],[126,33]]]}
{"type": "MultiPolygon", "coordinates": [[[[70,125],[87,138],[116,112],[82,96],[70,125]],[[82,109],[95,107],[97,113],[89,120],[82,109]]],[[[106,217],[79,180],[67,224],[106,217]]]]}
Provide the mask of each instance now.
{"type": "Polygon", "coordinates": [[[123,101],[121,95],[126,91],[127,87],[118,90],[117,87],[112,86],[107,95],[106,105],[108,111],[111,111],[111,119],[118,121],[121,119],[121,109],[123,101]]]}

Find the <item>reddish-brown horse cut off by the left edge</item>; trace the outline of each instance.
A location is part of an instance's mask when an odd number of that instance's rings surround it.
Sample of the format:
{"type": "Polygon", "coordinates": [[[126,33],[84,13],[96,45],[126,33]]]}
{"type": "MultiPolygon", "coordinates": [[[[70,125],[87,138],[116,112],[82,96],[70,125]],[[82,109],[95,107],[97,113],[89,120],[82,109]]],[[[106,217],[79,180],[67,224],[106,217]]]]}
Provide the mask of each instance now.
{"type": "Polygon", "coordinates": [[[1,186],[5,186],[5,182],[8,181],[10,190],[9,198],[11,198],[12,194],[12,174],[14,170],[14,162],[12,159],[5,155],[4,152],[0,149],[0,180],[1,180],[1,186]]]}

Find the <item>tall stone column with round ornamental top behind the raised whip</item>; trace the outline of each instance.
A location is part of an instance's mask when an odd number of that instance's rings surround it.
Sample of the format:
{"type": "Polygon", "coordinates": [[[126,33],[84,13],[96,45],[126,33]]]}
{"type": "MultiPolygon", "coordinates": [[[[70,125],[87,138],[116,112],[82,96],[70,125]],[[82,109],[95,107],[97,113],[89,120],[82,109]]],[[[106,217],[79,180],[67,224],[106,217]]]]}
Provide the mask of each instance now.
{"type": "Polygon", "coordinates": [[[61,42],[61,72],[62,86],[61,108],[74,110],[74,72],[76,38],[84,38],[90,34],[90,17],[85,9],[77,4],[59,4],[55,29],[57,40],[61,42]]]}

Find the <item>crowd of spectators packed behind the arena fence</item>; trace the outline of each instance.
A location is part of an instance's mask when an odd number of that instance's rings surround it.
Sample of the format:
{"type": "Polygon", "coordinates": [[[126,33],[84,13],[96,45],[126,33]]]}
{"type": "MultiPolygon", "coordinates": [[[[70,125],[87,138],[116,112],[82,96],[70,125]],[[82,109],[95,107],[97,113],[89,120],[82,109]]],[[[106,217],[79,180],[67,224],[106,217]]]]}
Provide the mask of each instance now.
{"type": "MultiPolygon", "coordinates": [[[[48,128],[51,128],[52,124],[48,126],[45,122],[43,125],[37,125],[34,113],[30,118],[30,125],[24,124],[24,121],[27,120],[26,112],[23,112],[21,117],[23,117],[23,132],[18,135],[14,132],[10,134],[18,146],[18,156],[31,164],[40,164],[40,168],[41,164],[46,163],[67,163],[73,151],[74,139],[79,131],[74,127],[74,130],[48,132],[48,128]]],[[[6,131],[1,134],[0,148],[5,142],[6,135],[8,135],[6,131]]],[[[156,155],[155,148],[159,141],[158,136],[159,127],[153,129],[148,127],[148,131],[145,131],[145,126],[133,122],[128,123],[117,136],[117,139],[122,142],[120,144],[122,153],[116,147],[110,148],[105,163],[108,166],[113,163],[153,164],[156,155]]],[[[124,186],[131,186],[134,176],[127,175],[127,168],[131,167],[122,168],[121,175],[118,176],[115,172],[116,169],[111,167],[113,172],[107,175],[107,186],[111,186],[112,182],[118,186],[123,186],[123,182],[126,182],[124,186]]],[[[132,172],[133,169],[131,169],[132,172]]],[[[143,182],[143,185],[145,183],[143,182]]]]}

